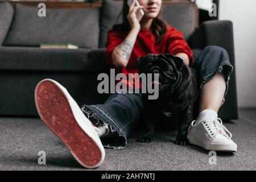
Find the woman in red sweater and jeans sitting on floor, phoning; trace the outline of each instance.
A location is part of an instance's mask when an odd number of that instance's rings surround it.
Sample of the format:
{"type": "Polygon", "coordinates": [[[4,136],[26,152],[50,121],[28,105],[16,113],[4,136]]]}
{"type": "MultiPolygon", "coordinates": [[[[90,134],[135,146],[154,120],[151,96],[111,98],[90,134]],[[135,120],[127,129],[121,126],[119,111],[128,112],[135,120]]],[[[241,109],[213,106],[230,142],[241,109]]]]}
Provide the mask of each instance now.
{"type": "MultiPolygon", "coordinates": [[[[197,108],[200,113],[189,127],[189,142],[207,150],[236,152],[237,146],[230,139],[232,135],[217,117],[233,71],[228,53],[223,48],[210,46],[194,61],[181,32],[160,19],[162,0],[138,1],[141,6],[135,6],[133,0],[130,7],[124,1],[123,23],[108,32],[106,60],[127,75],[138,73],[137,58],[147,53],[181,57],[185,65],[195,68],[200,75],[197,108]],[[144,11],[140,22],[136,17],[139,9],[144,11]]],[[[84,105],[80,109],[63,86],[49,79],[39,82],[35,97],[40,117],[87,168],[102,164],[104,147],[122,149],[127,145],[127,137],[143,108],[141,94],[117,93],[105,104],[84,105]]]]}

